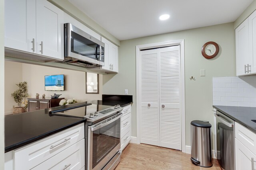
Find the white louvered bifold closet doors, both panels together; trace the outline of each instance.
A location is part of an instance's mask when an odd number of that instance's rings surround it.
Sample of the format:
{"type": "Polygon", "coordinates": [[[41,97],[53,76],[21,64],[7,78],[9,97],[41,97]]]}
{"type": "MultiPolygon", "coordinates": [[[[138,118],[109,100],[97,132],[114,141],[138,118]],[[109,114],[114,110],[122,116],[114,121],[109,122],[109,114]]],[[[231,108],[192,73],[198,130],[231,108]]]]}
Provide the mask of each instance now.
{"type": "Polygon", "coordinates": [[[140,143],[181,150],[180,45],[140,51],[140,143]]]}

